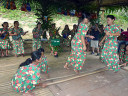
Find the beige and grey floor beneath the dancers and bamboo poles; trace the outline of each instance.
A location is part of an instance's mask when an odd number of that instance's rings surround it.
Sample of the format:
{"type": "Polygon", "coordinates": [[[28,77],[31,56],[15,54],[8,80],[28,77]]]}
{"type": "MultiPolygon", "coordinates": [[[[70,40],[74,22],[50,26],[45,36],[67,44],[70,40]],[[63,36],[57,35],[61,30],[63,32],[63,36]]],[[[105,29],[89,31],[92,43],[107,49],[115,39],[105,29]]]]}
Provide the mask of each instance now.
{"type": "MultiPolygon", "coordinates": [[[[0,96],[21,96],[13,91],[11,78],[16,73],[18,66],[30,57],[32,52],[32,41],[25,41],[25,57],[14,57],[10,50],[9,57],[0,57],[0,96]]],[[[47,42],[42,42],[45,55],[48,59],[49,77],[41,73],[41,82],[52,83],[72,78],[75,75],[72,66],[70,70],[63,68],[70,54],[70,47],[62,47],[58,58],[50,55],[47,42]],[[63,78],[58,78],[63,77],[63,78]],[[50,80],[49,80],[50,79],[50,80]],[[51,80],[52,79],[52,80],[51,80]],[[49,80],[49,81],[45,81],[49,80]]],[[[95,54],[96,55],[96,54],[95,54]]],[[[81,74],[88,74],[101,70],[105,64],[101,63],[98,56],[87,53],[87,60],[81,70],[81,74]]],[[[121,69],[119,72],[103,71],[96,74],[84,76],[46,88],[37,87],[33,92],[36,96],[128,96],[128,71],[121,69]]]]}

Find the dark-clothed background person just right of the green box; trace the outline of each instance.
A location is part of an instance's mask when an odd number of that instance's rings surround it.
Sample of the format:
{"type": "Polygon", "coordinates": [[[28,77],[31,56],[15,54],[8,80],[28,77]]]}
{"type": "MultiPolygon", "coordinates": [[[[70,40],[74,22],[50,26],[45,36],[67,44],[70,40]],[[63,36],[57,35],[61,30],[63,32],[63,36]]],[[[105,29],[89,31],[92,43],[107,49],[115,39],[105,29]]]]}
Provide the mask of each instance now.
{"type": "Polygon", "coordinates": [[[64,30],[62,31],[62,36],[63,36],[63,43],[66,46],[70,46],[70,40],[68,38],[68,36],[70,35],[70,29],[68,25],[65,25],[64,30]]]}

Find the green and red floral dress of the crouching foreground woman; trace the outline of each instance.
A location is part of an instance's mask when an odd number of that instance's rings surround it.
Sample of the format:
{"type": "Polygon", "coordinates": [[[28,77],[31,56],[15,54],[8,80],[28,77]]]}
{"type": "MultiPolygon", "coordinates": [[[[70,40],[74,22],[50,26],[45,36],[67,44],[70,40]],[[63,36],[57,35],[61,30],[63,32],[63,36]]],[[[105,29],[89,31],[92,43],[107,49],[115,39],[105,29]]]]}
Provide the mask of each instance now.
{"type": "Polygon", "coordinates": [[[16,92],[26,93],[35,88],[40,80],[40,68],[35,64],[20,67],[12,78],[12,87],[16,92]]]}

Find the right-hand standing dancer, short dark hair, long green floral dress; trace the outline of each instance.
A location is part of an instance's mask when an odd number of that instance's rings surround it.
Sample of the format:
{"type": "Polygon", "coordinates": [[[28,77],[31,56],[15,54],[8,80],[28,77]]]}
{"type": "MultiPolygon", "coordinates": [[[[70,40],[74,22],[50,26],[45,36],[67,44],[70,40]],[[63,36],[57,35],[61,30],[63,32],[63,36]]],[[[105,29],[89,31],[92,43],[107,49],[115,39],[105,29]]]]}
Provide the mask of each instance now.
{"type": "Polygon", "coordinates": [[[102,39],[99,45],[102,45],[105,40],[104,47],[101,53],[101,60],[106,63],[108,69],[112,69],[114,72],[120,70],[119,57],[118,57],[118,42],[117,37],[120,36],[120,26],[114,24],[115,17],[113,15],[107,16],[107,26],[105,27],[106,35],[102,39]]]}

